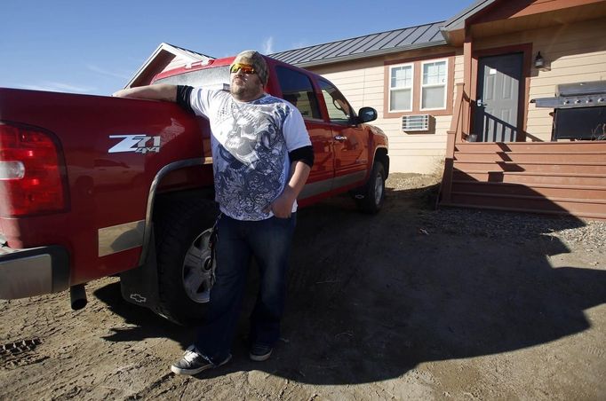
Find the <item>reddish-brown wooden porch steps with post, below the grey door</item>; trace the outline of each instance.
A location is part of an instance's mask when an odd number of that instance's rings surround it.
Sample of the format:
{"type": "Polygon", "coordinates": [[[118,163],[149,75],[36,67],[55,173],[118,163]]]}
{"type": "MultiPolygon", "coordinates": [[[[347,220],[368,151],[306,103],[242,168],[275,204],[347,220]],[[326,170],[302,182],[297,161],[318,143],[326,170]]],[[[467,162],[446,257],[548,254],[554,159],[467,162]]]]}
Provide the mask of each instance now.
{"type": "Polygon", "coordinates": [[[606,220],[606,141],[467,142],[458,84],[439,206],[606,220]]]}

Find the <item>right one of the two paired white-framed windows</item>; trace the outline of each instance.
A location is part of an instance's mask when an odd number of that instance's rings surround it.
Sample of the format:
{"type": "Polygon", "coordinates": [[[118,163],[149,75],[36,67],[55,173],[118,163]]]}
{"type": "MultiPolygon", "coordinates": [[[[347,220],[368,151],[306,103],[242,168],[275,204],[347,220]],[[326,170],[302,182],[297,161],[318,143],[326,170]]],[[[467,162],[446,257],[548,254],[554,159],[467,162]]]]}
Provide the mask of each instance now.
{"type": "Polygon", "coordinates": [[[421,62],[420,110],[446,108],[448,88],[448,59],[421,62]]]}

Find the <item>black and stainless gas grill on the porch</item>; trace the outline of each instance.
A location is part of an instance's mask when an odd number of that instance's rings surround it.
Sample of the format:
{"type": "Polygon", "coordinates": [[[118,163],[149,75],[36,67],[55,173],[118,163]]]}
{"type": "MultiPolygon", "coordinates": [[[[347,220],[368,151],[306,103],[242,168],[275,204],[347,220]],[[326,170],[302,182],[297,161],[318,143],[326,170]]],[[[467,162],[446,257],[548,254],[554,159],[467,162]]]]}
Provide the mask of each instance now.
{"type": "Polygon", "coordinates": [[[554,98],[530,100],[554,109],[552,140],[606,140],[606,81],[564,83],[554,98]]]}

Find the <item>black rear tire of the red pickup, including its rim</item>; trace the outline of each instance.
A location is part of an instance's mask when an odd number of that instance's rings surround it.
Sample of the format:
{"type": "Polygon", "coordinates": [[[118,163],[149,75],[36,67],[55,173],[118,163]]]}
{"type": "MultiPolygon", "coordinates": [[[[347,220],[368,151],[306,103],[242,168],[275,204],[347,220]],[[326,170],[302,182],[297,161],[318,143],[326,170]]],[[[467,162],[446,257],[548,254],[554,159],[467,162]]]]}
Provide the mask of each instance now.
{"type": "Polygon", "coordinates": [[[209,301],[214,263],[208,248],[218,210],[213,201],[166,203],[155,221],[158,313],[179,324],[199,321],[209,301]]]}

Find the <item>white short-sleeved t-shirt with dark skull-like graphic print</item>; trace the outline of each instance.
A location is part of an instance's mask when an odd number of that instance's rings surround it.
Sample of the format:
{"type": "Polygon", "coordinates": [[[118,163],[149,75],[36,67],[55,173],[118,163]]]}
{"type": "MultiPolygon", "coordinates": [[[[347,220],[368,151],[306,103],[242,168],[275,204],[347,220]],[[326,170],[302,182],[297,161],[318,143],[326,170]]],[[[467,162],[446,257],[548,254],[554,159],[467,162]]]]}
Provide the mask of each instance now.
{"type": "MultiPolygon", "coordinates": [[[[223,90],[194,88],[191,107],[211,122],[215,201],[227,216],[263,220],[286,185],[288,153],[311,145],[297,107],[265,95],[239,102],[223,90]]],[[[297,210],[295,201],[292,211],[297,210]]]]}

